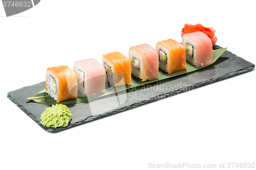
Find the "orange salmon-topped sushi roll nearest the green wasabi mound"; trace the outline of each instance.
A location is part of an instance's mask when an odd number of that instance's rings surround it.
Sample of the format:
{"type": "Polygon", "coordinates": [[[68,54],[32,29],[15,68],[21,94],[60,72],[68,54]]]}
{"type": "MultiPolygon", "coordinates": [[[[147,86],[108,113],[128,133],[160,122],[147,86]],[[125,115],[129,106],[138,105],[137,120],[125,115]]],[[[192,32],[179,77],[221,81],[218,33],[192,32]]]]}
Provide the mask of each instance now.
{"type": "Polygon", "coordinates": [[[57,101],[77,98],[75,72],[68,66],[49,67],[46,72],[46,92],[57,101]]]}

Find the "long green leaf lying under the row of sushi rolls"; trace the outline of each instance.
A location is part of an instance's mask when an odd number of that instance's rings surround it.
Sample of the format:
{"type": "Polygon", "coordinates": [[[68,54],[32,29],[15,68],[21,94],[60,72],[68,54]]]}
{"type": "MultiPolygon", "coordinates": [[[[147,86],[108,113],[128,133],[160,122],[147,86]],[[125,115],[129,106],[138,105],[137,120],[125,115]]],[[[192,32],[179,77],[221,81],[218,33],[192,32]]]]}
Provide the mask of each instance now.
{"type": "MultiPolygon", "coordinates": [[[[227,50],[227,48],[220,48],[220,49],[214,50],[212,52],[212,60],[215,62],[226,50],[227,50]]],[[[202,66],[202,67],[195,67],[195,66],[193,66],[189,63],[186,63],[186,66],[187,66],[187,68],[185,70],[177,71],[177,72],[174,72],[172,74],[167,74],[166,72],[164,72],[162,70],[159,70],[158,79],[151,80],[151,81],[142,82],[140,79],[132,76],[132,84],[131,85],[106,88],[103,92],[100,92],[100,93],[97,93],[97,94],[92,94],[90,96],[78,96],[77,99],[71,99],[71,100],[59,102],[59,104],[60,103],[61,104],[75,104],[75,103],[89,102],[89,101],[92,101],[94,99],[97,99],[97,98],[100,98],[102,96],[106,96],[106,95],[109,95],[109,94],[113,94],[113,93],[118,92],[118,91],[131,89],[131,88],[136,89],[136,87],[141,86],[141,85],[145,85],[145,84],[157,82],[157,81],[160,81],[160,80],[168,79],[168,78],[171,78],[171,77],[183,75],[183,74],[186,74],[188,72],[192,72],[192,71],[196,71],[196,70],[205,68],[209,65],[205,65],[205,66],[202,66]]],[[[55,105],[55,104],[57,104],[57,102],[46,92],[45,89],[41,90],[40,92],[36,93],[35,95],[31,96],[30,98],[27,98],[27,100],[28,101],[35,101],[37,103],[46,104],[46,105],[55,105]]]]}

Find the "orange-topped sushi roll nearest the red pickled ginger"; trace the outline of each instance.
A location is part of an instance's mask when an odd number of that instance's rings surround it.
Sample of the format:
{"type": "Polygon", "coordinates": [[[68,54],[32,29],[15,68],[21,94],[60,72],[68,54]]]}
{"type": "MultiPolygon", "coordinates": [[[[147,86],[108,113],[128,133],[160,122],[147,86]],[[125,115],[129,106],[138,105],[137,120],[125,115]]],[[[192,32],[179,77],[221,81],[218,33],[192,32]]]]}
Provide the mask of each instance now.
{"type": "Polygon", "coordinates": [[[156,48],[160,69],[168,74],[186,69],[186,52],[181,43],[168,39],[158,42],[156,48]]]}

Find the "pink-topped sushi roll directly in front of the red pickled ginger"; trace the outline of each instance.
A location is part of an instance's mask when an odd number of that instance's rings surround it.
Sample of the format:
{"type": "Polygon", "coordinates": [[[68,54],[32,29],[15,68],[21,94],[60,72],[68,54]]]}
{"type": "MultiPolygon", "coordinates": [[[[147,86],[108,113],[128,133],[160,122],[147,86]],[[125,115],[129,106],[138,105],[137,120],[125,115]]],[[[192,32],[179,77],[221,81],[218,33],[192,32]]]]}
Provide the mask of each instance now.
{"type": "Polygon", "coordinates": [[[202,32],[187,33],[182,36],[186,50],[186,61],[196,67],[212,64],[212,43],[202,32]]]}

